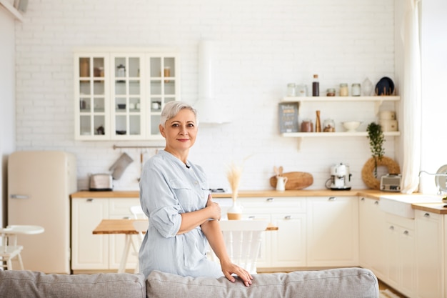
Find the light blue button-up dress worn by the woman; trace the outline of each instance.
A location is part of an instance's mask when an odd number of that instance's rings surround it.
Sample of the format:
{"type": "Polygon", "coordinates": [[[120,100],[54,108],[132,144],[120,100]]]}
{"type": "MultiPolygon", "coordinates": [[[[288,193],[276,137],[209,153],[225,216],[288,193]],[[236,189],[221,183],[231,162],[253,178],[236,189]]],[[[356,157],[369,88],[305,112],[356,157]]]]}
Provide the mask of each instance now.
{"type": "Polygon", "coordinates": [[[189,277],[221,277],[216,262],[206,259],[208,241],[200,227],[177,235],[181,213],[206,207],[209,186],[201,167],[189,168],[166,151],[144,164],[140,180],[140,203],[149,217],[149,229],[139,252],[140,272],[153,271],[189,277]]]}

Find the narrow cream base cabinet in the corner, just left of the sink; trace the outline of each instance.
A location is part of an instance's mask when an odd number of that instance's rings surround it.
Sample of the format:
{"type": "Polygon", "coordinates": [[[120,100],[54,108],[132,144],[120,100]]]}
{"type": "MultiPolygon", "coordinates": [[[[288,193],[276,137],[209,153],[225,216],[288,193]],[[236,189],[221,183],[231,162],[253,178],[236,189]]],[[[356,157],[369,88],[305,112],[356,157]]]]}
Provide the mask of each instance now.
{"type": "Polygon", "coordinates": [[[378,279],[387,272],[385,212],[378,199],[360,197],[358,202],[359,262],[363,268],[373,270],[378,279]]]}

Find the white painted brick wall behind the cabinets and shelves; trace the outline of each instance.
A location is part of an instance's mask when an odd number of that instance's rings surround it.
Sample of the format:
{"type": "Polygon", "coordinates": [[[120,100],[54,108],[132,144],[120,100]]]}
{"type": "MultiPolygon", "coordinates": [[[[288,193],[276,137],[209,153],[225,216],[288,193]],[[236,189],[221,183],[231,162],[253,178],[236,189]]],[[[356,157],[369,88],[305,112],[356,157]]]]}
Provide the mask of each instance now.
{"type": "MultiPolygon", "coordinates": [[[[245,163],[241,189],[268,189],[273,166],[311,172],[321,189],[331,164],[350,164],[353,187],[365,187],[361,168],[371,155],[366,138],[303,139],[278,134],[277,104],[288,82],[321,91],[341,82],[375,83],[394,76],[394,5],[389,0],[39,0],[16,24],[17,149],[64,149],[78,158],[79,187],[88,173],[106,172],[121,152],[117,142],[74,141],[73,49],[79,46],[175,46],[181,51],[182,98],[197,96],[197,46],[214,41],[214,94],[231,124],[201,126],[190,159],[209,174],[211,187],[226,187],[231,161],[245,163]],[[311,2],[311,3],[310,3],[311,2]]],[[[358,107],[312,106],[322,120],[363,117],[358,107]],[[338,109],[338,111],[333,111],[338,109]]],[[[373,121],[362,119],[362,128],[373,121]]],[[[129,142],[123,144],[130,144],[129,142]]],[[[123,145],[121,144],[121,145],[123,145]]],[[[135,144],[135,143],[132,143],[135,144]]],[[[153,144],[140,142],[139,144],[153,144]]],[[[161,143],[163,144],[163,143],[161,143]]],[[[136,187],[139,149],[116,187],[136,187]]],[[[146,157],[155,150],[144,151],[146,157]]],[[[394,158],[394,140],[386,155],[394,158]]]]}

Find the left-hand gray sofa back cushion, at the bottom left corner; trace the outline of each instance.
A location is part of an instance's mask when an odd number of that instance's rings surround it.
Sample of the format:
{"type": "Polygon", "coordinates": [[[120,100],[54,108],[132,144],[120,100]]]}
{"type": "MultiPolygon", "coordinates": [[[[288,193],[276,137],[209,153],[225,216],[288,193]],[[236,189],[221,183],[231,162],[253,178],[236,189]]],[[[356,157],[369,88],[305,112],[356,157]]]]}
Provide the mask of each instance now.
{"type": "Polygon", "coordinates": [[[0,270],[1,297],[146,297],[143,274],[45,274],[0,270]]]}

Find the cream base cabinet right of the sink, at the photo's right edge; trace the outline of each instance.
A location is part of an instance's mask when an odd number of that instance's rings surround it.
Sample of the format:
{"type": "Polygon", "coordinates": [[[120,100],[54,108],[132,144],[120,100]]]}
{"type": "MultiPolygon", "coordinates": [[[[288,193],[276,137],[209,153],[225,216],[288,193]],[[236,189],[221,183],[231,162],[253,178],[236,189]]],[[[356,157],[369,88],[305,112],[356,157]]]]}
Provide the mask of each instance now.
{"type": "Polygon", "coordinates": [[[418,298],[446,297],[444,294],[443,215],[415,211],[416,287],[418,298]]]}

